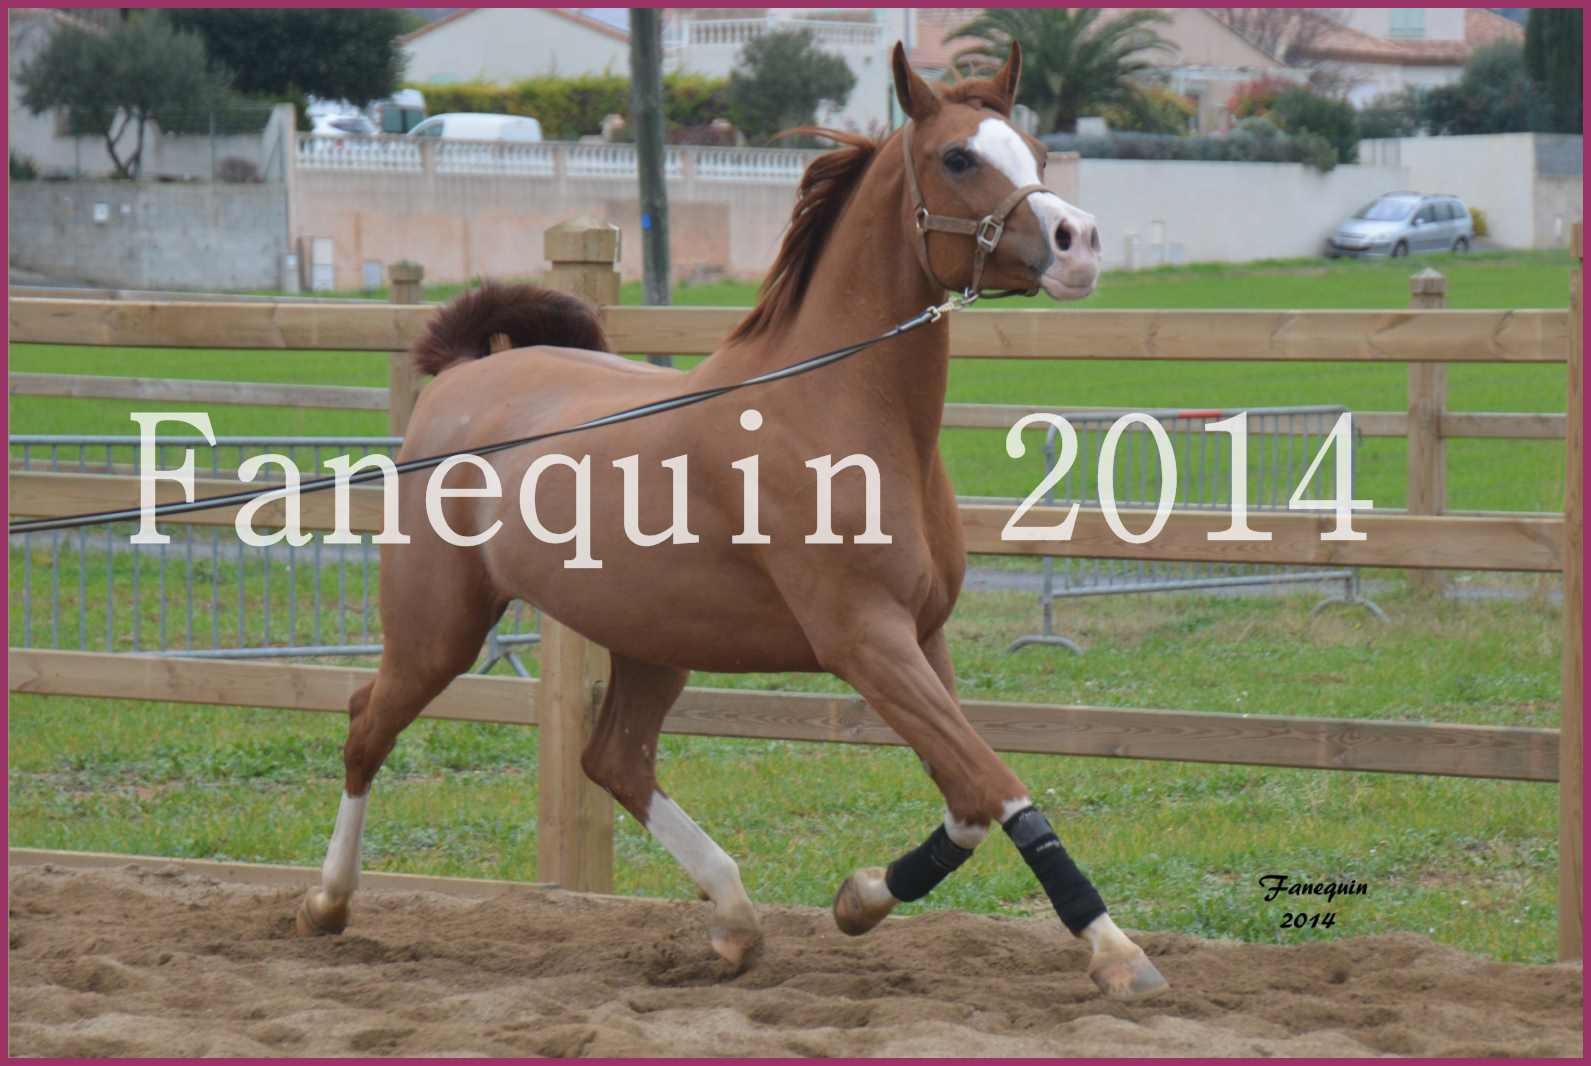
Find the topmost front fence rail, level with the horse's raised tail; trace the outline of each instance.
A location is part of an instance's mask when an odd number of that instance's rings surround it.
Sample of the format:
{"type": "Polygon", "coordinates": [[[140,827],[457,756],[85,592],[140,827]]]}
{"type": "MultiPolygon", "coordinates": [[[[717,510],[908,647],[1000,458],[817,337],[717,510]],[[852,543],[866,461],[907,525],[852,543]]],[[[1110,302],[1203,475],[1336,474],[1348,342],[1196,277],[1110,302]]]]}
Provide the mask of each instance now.
{"type": "MultiPolygon", "coordinates": [[[[11,340],[159,348],[396,352],[434,309],[16,298],[11,340]]],[[[603,307],[619,352],[711,352],[745,310],[603,307]]],[[[1562,310],[974,310],[950,355],[980,360],[1562,363],[1562,310]]]]}

